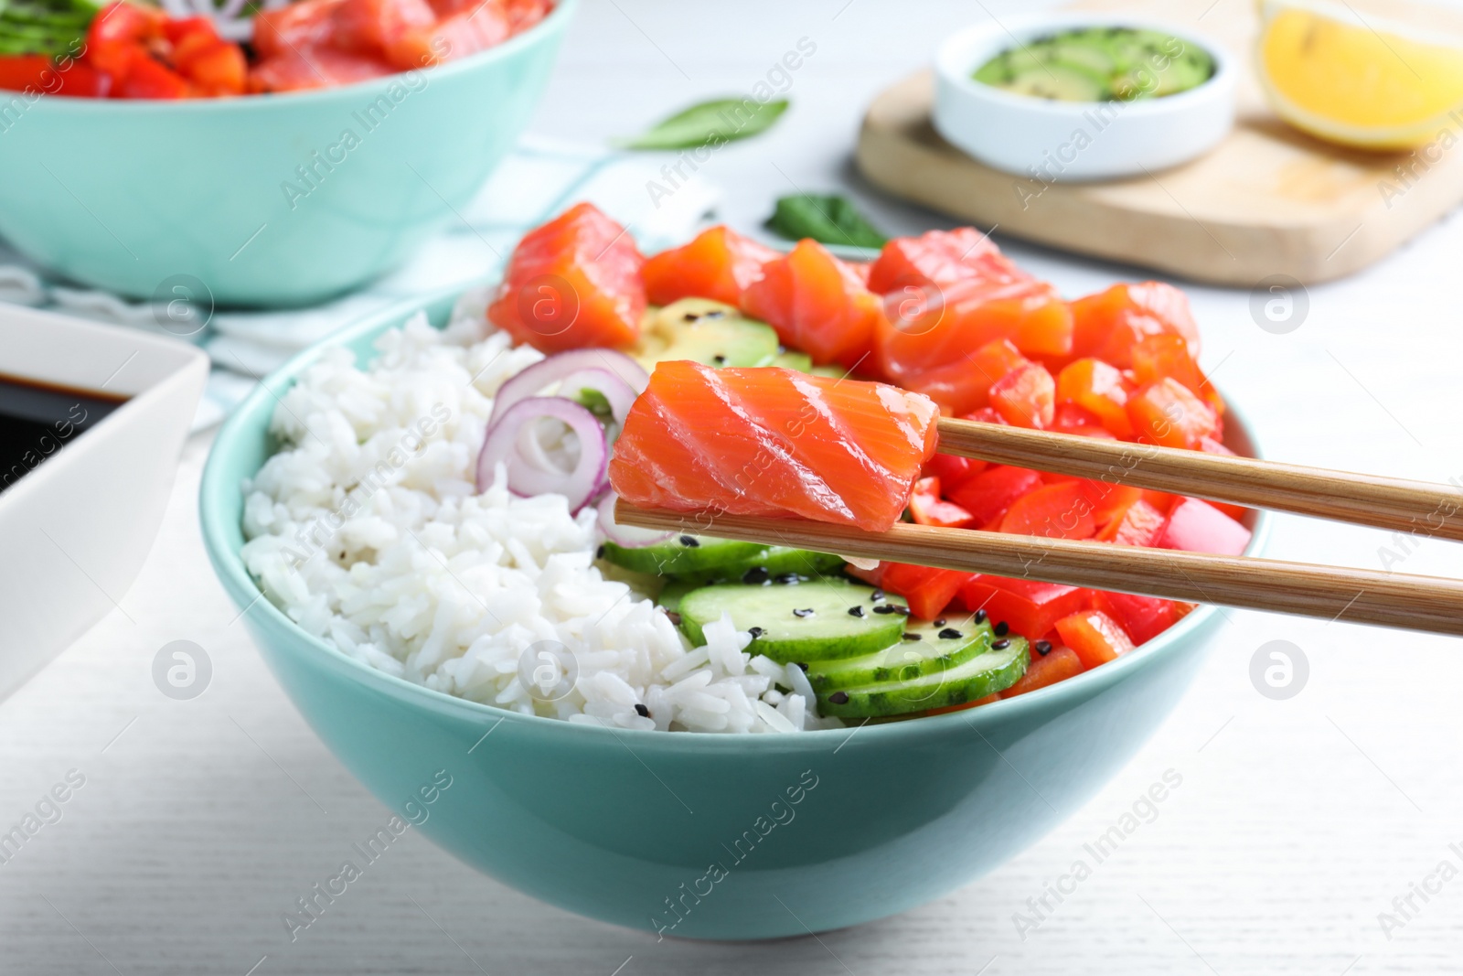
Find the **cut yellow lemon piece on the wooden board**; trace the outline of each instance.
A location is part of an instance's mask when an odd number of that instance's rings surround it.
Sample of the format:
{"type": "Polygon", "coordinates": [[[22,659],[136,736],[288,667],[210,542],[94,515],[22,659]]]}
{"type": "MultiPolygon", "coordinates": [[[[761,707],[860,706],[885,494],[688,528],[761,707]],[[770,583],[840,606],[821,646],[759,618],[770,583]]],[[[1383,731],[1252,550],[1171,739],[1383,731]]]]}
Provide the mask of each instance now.
{"type": "Polygon", "coordinates": [[[1321,139],[1407,149],[1463,124],[1463,40],[1347,3],[1261,0],[1255,66],[1276,113],[1321,139]]]}

